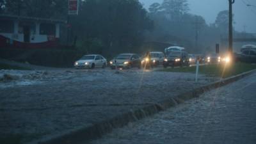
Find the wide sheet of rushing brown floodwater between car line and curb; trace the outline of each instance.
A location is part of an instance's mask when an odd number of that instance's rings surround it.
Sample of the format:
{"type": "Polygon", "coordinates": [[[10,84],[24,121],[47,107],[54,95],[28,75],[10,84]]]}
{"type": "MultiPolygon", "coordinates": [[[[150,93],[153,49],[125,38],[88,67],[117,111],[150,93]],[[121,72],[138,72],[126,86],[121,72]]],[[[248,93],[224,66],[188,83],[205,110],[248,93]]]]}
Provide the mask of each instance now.
{"type": "Polygon", "coordinates": [[[199,78],[195,83],[195,74],[138,69],[0,70],[0,140],[90,127],[216,81],[199,78]]]}

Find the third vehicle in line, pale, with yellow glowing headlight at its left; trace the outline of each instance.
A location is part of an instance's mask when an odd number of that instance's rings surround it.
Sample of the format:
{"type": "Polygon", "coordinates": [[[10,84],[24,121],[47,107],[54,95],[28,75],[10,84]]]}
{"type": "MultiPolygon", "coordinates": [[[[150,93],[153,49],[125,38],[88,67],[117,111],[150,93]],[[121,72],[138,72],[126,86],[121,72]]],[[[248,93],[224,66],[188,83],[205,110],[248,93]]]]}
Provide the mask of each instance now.
{"type": "Polygon", "coordinates": [[[150,62],[150,65],[152,66],[158,66],[159,64],[163,65],[164,61],[164,53],[163,52],[150,52],[150,60],[148,60],[148,57],[145,56],[143,60],[141,61],[142,67],[144,67],[148,62],[150,62]]]}

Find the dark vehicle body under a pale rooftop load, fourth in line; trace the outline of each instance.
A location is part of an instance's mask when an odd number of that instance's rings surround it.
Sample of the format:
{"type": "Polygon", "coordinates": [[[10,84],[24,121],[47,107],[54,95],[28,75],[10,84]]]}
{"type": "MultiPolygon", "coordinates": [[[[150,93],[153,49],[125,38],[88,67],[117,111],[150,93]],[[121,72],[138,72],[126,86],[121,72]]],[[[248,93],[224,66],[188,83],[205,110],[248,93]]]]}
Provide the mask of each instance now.
{"type": "Polygon", "coordinates": [[[189,66],[189,56],[185,51],[173,51],[166,56],[163,62],[164,68],[166,67],[183,67],[189,66]]]}

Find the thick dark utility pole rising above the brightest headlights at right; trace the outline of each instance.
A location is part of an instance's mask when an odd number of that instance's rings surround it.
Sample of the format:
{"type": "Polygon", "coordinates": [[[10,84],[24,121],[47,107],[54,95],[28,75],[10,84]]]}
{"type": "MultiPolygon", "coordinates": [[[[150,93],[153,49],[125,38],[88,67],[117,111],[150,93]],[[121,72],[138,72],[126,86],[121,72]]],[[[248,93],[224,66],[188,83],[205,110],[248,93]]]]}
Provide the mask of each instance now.
{"type": "Polygon", "coordinates": [[[229,20],[228,20],[228,52],[232,54],[233,52],[233,12],[232,4],[235,3],[235,0],[228,0],[229,2],[229,20]]]}

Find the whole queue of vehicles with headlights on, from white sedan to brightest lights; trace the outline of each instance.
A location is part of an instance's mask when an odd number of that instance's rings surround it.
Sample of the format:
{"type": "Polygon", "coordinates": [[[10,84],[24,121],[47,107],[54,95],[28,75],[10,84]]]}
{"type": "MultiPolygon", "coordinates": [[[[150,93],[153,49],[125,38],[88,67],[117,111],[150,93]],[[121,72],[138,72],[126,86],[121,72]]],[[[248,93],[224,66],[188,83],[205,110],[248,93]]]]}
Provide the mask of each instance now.
{"type": "Polygon", "coordinates": [[[166,67],[188,67],[196,61],[200,63],[220,63],[230,61],[228,57],[222,57],[218,54],[202,56],[202,54],[188,54],[184,47],[172,46],[164,49],[164,52],[147,52],[142,58],[138,54],[124,53],[118,54],[113,60],[107,62],[106,58],[99,54],[85,55],[76,61],[76,68],[105,68],[108,64],[111,69],[115,68],[147,68],[163,65],[166,67]]]}

